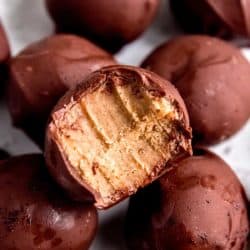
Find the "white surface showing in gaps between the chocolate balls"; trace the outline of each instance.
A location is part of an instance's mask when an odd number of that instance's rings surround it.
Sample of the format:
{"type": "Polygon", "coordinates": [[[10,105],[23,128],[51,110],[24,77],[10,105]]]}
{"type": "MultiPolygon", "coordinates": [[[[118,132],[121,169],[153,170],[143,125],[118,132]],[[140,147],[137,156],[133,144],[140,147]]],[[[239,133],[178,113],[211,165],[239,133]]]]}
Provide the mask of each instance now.
{"type": "MultiPolygon", "coordinates": [[[[46,14],[43,0],[0,0],[0,18],[8,34],[13,54],[53,32],[53,24],[46,14]]],[[[124,47],[116,57],[121,63],[139,65],[157,45],[178,33],[168,11],[168,3],[163,1],[159,15],[150,29],[137,41],[124,47]]],[[[245,49],[243,52],[249,54],[250,59],[250,51],[245,49]]],[[[14,155],[39,152],[22,132],[11,127],[3,100],[0,101],[0,148],[14,155]]],[[[250,196],[250,122],[233,138],[213,147],[212,150],[235,170],[250,196]]],[[[91,250],[124,249],[122,220],[126,204],[125,201],[108,211],[100,212],[99,233],[91,250]]]]}

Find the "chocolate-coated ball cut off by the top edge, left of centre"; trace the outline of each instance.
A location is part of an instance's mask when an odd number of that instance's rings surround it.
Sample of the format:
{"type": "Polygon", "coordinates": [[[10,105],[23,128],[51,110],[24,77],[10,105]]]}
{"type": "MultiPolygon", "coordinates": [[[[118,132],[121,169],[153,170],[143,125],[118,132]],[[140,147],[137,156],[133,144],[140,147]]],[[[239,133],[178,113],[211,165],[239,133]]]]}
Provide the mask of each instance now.
{"type": "Polygon", "coordinates": [[[152,22],[159,0],[46,0],[58,32],[83,35],[115,52],[152,22]]]}

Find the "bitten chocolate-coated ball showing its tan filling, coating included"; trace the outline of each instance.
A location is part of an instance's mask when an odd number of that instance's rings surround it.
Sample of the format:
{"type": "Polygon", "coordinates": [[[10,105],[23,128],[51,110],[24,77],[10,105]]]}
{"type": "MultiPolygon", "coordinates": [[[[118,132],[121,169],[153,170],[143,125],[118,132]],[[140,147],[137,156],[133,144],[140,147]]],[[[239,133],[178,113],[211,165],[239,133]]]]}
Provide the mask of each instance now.
{"type": "Polygon", "coordinates": [[[177,90],[152,72],[110,66],[69,91],[51,114],[45,155],[74,197],[87,189],[98,208],[135,193],[191,153],[191,131],[177,90]]]}

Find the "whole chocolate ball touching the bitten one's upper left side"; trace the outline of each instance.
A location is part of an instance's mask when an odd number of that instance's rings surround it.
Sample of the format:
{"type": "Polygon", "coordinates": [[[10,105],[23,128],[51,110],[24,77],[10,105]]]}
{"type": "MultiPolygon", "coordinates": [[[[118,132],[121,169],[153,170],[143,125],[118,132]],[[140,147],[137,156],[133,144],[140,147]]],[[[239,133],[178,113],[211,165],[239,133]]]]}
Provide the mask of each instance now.
{"type": "Polygon", "coordinates": [[[111,64],[110,54],[77,36],[51,36],[28,46],[10,61],[8,104],[14,125],[43,146],[46,121],[58,99],[111,64]]]}

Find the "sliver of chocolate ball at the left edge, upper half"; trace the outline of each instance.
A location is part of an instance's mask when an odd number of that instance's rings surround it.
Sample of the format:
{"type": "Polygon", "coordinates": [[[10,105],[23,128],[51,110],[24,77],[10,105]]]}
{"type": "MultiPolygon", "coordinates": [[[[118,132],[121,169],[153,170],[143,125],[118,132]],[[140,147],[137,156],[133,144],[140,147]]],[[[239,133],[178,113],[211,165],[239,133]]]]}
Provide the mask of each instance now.
{"type": "Polygon", "coordinates": [[[6,63],[10,57],[10,48],[7,41],[7,37],[3,26],[0,22],[0,90],[4,88],[4,82],[6,80],[7,67],[6,63]]]}

